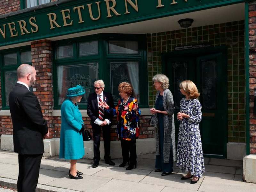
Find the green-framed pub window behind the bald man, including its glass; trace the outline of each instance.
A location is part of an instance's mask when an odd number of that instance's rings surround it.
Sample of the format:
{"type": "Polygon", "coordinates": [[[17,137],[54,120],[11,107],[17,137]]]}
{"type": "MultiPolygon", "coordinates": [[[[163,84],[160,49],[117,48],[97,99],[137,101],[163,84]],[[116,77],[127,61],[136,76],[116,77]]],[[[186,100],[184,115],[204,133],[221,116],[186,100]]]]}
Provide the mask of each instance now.
{"type": "Polygon", "coordinates": [[[30,46],[20,47],[17,49],[3,50],[0,52],[0,71],[2,81],[2,109],[9,109],[9,93],[16,84],[17,68],[23,64],[31,64],[30,46]]]}

